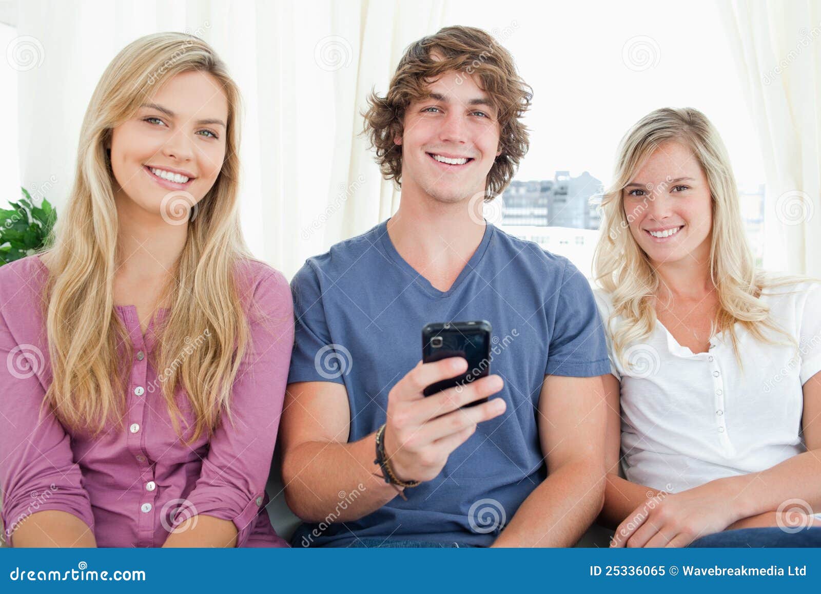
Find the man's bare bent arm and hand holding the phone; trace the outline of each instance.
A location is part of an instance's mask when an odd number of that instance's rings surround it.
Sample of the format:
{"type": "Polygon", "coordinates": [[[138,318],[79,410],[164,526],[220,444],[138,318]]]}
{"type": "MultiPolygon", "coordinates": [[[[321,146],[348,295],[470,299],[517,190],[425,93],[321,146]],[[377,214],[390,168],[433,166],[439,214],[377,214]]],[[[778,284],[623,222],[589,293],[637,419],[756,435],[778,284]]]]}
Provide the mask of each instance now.
{"type": "MultiPolygon", "coordinates": [[[[505,411],[502,398],[461,408],[502,389],[498,375],[423,395],[426,386],[466,370],[467,361],[461,357],[420,361],[388,393],[385,455],[402,481],[437,477],[452,451],[476,431],[477,423],[505,411]]],[[[374,463],[375,435],[347,443],[350,422],[351,408],[342,384],[288,385],[280,428],[282,479],[288,506],[305,521],[321,522],[331,514],[331,522],[362,518],[398,495],[399,487],[386,483],[374,463]],[[343,500],[346,509],[338,505],[343,500]]]]}

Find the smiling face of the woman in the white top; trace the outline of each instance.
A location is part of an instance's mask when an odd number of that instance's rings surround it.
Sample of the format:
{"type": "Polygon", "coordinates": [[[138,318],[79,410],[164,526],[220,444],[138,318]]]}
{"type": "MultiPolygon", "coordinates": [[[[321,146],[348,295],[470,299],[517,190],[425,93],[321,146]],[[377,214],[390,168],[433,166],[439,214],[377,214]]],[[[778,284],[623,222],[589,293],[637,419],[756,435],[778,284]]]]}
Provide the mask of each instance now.
{"type": "Polygon", "coordinates": [[[689,147],[676,141],[659,145],[621,194],[630,231],[654,266],[688,256],[707,259],[713,200],[689,147]]]}

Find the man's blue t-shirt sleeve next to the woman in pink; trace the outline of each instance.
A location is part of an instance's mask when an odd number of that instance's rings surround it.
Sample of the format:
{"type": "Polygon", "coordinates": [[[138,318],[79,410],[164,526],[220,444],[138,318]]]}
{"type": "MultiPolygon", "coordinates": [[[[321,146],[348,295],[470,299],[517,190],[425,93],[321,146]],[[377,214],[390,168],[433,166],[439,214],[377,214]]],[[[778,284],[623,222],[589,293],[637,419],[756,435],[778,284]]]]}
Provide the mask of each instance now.
{"type": "Polygon", "coordinates": [[[345,383],[342,374],[328,373],[326,364],[323,364],[323,361],[333,361],[337,345],[333,343],[328,330],[322,288],[317,274],[306,263],[291,280],[296,320],[289,384],[299,381],[345,383]]]}

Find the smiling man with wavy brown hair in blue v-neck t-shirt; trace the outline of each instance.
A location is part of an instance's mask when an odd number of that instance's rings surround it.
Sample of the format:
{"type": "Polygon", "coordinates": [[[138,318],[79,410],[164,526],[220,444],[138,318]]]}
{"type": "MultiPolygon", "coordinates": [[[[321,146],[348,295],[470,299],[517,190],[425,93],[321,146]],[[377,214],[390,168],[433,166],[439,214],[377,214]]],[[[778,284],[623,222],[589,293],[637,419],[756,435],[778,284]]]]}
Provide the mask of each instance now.
{"type": "Polygon", "coordinates": [[[507,50],[466,27],[412,44],[371,96],[401,204],[291,283],[294,546],[572,546],[599,514],[610,366],[594,297],[568,260],[481,215],[528,148],[530,97],[507,50]],[[467,363],[423,364],[422,327],[468,320],[493,327],[491,373],[425,397],[467,363]]]}

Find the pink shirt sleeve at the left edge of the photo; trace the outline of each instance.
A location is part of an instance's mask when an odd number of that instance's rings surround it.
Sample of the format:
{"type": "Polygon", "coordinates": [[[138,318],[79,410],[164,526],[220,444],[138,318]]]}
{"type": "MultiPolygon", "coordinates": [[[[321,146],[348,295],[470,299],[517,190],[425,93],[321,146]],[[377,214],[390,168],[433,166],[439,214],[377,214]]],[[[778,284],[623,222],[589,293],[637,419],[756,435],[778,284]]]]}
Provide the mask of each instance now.
{"type": "Polygon", "coordinates": [[[71,513],[94,530],[89,495],[71,452],[71,437],[43,406],[48,352],[18,343],[0,313],[0,487],[3,537],[33,513],[71,513]]]}

